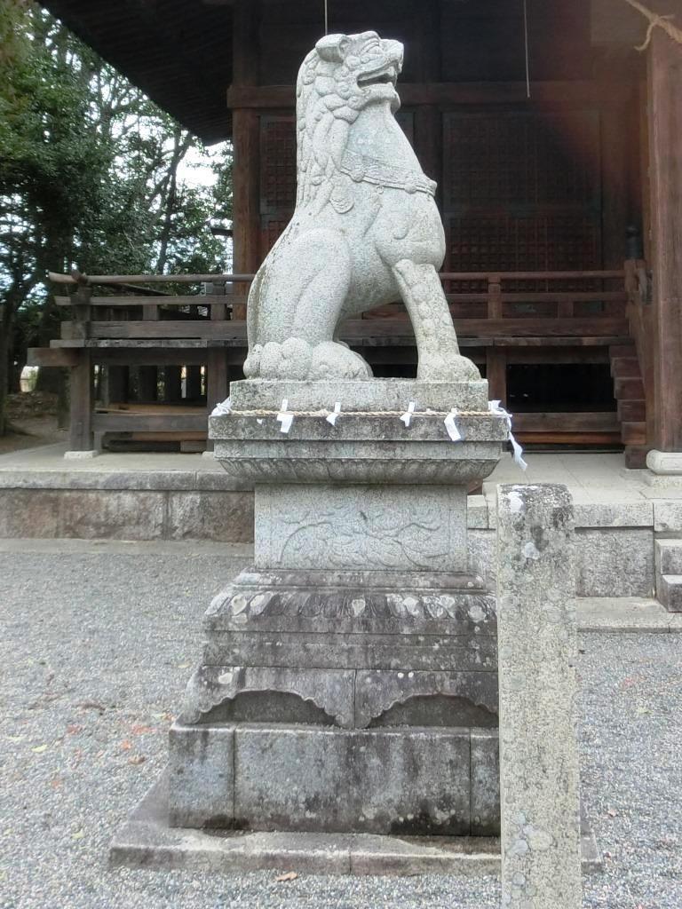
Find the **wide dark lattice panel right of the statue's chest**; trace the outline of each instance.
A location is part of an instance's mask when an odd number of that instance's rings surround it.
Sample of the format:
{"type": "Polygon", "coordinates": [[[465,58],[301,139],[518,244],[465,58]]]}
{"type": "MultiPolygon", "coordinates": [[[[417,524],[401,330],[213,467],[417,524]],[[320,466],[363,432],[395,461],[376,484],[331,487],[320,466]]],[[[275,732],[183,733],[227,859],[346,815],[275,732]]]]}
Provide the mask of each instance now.
{"type": "Polygon", "coordinates": [[[600,268],[600,170],[599,121],[591,112],[444,115],[448,270],[600,268]]]}

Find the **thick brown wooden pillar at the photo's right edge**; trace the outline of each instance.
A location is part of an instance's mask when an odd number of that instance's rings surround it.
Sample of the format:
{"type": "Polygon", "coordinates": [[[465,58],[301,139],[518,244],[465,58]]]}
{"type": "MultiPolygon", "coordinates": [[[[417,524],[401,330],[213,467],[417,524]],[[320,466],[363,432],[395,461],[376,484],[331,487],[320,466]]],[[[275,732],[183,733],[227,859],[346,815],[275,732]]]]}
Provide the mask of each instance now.
{"type": "Polygon", "coordinates": [[[682,45],[660,28],[649,45],[647,87],[655,445],[682,452],[682,45]]]}

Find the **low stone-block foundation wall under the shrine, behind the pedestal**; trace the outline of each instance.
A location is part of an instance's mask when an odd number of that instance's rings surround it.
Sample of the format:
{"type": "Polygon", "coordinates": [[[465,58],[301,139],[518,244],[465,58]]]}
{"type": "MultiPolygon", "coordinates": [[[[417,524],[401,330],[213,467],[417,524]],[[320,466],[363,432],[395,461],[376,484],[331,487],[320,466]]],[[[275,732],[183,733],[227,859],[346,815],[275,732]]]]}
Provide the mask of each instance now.
{"type": "MultiPolygon", "coordinates": [[[[468,499],[469,567],[494,584],[492,494],[468,499]]],[[[682,530],[682,505],[577,504],[580,596],[651,596],[654,539],[682,530]]],[[[0,474],[0,537],[250,543],[254,495],[216,472],[0,474]]]]}

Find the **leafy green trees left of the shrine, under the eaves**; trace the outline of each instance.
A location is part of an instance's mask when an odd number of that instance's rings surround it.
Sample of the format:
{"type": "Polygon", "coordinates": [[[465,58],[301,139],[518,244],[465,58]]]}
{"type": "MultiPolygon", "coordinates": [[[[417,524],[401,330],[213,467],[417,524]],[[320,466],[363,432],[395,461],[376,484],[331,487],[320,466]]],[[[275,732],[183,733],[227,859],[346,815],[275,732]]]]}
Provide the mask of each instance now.
{"type": "Polygon", "coordinates": [[[0,0],[0,434],[9,363],[58,334],[47,271],[225,268],[209,222],[229,179],[189,185],[190,153],[220,170],[230,150],[207,155],[31,0],[0,0]]]}

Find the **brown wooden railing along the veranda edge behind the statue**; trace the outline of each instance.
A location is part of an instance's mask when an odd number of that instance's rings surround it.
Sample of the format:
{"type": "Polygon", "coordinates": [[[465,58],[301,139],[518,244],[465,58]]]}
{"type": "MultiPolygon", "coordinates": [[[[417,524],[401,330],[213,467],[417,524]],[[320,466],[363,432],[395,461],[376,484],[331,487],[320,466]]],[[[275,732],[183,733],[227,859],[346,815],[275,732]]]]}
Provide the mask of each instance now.
{"type": "MultiPolygon", "coordinates": [[[[246,285],[254,275],[55,275],[58,285],[71,285],[75,293],[57,296],[60,306],[72,309],[72,330],[65,327],[65,340],[90,338],[143,339],[221,337],[226,342],[245,340],[242,308],[246,285]],[[206,285],[205,294],[159,295],[148,285],[206,285]],[[94,295],[99,285],[118,293],[94,295]],[[140,285],[147,285],[140,286],[140,285]],[[120,293],[121,290],[124,293],[120,293]],[[153,295],[150,295],[150,292],[153,295]],[[203,322],[226,325],[202,327],[203,322]],[[193,325],[187,325],[192,322],[193,325]],[[161,323],[160,325],[153,325],[161,323]],[[108,326],[107,326],[108,324],[108,326]],[[227,331],[226,331],[227,329],[227,331]],[[231,329],[231,330],[230,330],[231,329]]],[[[591,336],[617,334],[627,317],[626,272],[597,270],[581,272],[446,272],[440,275],[448,304],[462,337],[591,336]],[[610,320],[610,321],[609,321],[610,320]]],[[[346,323],[349,338],[406,335],[402,304],[367,312],[362,319],[346,323]],[[367,325],[370,322],[372,325],[367,325]]],[[[396,340],[396,343],[401,343],[396,340]]]]}

